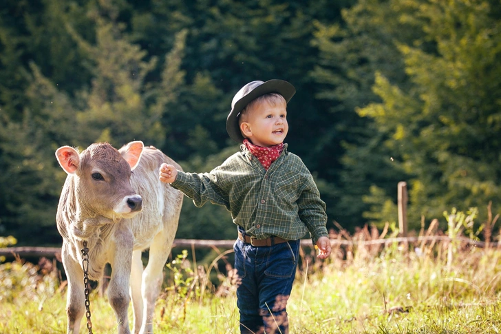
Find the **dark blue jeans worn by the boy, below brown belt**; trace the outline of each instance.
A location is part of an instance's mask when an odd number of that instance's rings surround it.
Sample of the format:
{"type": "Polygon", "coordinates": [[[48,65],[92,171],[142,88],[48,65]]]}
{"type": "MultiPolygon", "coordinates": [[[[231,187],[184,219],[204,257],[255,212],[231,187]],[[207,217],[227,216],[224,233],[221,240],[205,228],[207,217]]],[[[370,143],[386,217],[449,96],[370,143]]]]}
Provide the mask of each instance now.
{"type": "Polygon", "coordinates": [[[233,245],[241,333],[288,333],[287,300],[297,268],[299,240],[254,247],[242,240],[233,245]]]}

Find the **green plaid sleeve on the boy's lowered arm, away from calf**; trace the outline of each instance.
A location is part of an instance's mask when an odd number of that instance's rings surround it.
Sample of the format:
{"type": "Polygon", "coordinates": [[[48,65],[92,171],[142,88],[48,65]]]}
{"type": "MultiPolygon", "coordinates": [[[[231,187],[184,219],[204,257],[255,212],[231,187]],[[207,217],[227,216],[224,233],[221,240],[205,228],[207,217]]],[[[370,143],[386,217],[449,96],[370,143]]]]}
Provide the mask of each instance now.
{"type": "Polygon", "coordinates": [[[297,205],[299,219],[310,231],[313,244],[317,244],[317,240],[323,236],[328,237],[326,203],[321,200],[319,189],[309,172],[306,186],[299,195],[297,205]]]}

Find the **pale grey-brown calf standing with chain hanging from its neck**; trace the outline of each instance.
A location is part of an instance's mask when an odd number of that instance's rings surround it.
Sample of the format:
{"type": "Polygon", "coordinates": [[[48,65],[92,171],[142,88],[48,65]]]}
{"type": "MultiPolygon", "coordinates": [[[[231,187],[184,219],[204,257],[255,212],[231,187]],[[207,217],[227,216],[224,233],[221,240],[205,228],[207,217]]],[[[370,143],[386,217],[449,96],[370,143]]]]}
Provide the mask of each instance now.
{"type": "Polygon", "coordinates": [[[56,216],[68,282],[67,333],[78,334],[86,311],[84,241],[89,249],[89,280],[100,280],[105,264],[111,265],[108,295],[118,333],[130,333],[130,300],[134,333],[153,333],[162,269],[171,252],[182,205],[182,193],[158,180],[158,167],[162,163],[180,166],[140,141],[119,150],[107,143],[92,144],[80,154],[63,146],[57,149],[56,158],[68,174],[56,216]],[[143,271],[141,252],[148,248],[149,260],[143,271]]]}

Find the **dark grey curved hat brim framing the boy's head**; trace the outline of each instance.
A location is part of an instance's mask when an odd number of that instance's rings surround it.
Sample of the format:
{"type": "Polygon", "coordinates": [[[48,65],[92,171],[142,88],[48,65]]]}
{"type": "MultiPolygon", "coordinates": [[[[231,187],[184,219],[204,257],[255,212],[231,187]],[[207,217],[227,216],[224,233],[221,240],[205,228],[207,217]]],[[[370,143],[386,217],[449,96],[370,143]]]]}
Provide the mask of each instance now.
{"type": "Polygon", "coordinates": [[[242,136],[238,125],[238,116],[248,103],[259,96],[268,93],[278,93],[281,96],[284,96],[286,102],[288,103],[292,96],[296,93],[296,89],[287,81],[273,79],[255,87],[251,90],[251,92],[248,92],[248,94],[240,98],[233,106],[233,109],[231,109],[230,114],[228,114],[228,118],[226,118],[226,132],[228,132],[231,139],[235,140],[237,143],[242,143],[244,141],[245,138],[242,136]]]}

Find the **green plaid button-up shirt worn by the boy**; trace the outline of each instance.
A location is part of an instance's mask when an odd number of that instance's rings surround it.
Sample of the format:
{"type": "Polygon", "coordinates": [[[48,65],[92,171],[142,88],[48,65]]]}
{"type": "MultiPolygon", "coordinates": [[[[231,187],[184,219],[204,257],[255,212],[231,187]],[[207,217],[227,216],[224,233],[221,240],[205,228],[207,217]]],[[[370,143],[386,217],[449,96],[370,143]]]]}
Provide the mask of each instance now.
{"type": "Polygon", "coordinates": [[[268,171],[244,145],[210,173],[178,171],[172,186],[193,199],[197,207],[208,200],[224,205],[233,222],[249,236],[302,238],[306,232],[315,244],[326,229],[326,204],[301,158],[287,145],[268,171]]]}

